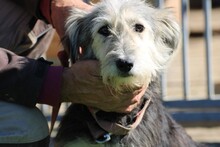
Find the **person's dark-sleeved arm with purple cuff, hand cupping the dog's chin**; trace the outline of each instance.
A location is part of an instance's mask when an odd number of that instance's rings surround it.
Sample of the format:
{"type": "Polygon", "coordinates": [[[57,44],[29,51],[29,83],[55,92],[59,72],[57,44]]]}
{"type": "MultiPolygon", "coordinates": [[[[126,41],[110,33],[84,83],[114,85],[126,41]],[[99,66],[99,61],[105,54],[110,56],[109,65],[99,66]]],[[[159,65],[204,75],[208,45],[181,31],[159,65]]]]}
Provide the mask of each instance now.
{"type": "Polygon", "coordinates": [[[0,48],[0,99],[33,107],[81,103],[105,111],[130,112],[144,90],[114,94],[103,85],[97,61],[82,61],[71,68],[51,67],[47,61],[17,56],[0,48]],[[60,99],[61,98],[61,99],[60,99]]]}

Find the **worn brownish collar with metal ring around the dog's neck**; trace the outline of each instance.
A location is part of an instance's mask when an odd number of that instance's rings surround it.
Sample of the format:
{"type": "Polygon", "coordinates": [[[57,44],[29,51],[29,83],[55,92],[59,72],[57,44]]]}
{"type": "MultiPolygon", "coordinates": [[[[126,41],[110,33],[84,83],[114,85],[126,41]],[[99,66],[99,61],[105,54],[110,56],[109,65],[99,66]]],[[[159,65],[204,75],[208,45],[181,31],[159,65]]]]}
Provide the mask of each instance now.
{"type": "Polygon", "coordinates": [[[94,109],[92,107],[88,107],[90,113],[92,114],[95,122],[88,122],[88,128],[96,140],[97,143],[105,143],[111,139],[111,135],[126,135],[131,130],[135,129],[141,122],[145,111],[151,103],[151,98],[145,101],[143,108],[137,113],[136,120],[133,124],[129,126],[123,126],[117,122],[110,122],[99,118],[96,113],[99,111],[98,109],[94,109]]]}

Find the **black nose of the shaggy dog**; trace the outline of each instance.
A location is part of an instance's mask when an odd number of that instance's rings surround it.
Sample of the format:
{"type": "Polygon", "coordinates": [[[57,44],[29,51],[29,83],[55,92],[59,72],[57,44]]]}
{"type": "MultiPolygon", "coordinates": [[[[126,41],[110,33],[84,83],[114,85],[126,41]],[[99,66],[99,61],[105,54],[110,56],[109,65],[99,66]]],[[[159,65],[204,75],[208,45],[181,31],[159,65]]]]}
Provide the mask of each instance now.
{"type": "Polygon", "coordinates": [[[133,63],[126,60],[118,59],[116,61],[116,66],[121,72],[128,73],[132,69],[133,63]]]}

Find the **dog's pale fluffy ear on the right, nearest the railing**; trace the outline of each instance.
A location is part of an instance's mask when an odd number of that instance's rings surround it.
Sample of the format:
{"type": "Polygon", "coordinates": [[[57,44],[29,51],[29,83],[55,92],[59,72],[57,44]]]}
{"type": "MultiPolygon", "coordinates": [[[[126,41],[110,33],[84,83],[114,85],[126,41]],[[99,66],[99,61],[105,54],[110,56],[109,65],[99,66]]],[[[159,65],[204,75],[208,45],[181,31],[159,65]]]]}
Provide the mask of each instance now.
{"type": "MultiPolygon", "coordinates": [[[[158,10],[154,19],[156,37],[159,37],[161,43],[171,49],[176,49],[180,42],[180,27],[173,17],[172,11],[169,8],[158,10]]],[[[158,39],[158,38],[157,38],[158,39]]]]}

